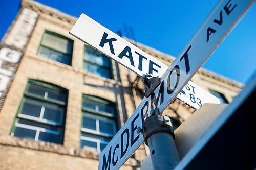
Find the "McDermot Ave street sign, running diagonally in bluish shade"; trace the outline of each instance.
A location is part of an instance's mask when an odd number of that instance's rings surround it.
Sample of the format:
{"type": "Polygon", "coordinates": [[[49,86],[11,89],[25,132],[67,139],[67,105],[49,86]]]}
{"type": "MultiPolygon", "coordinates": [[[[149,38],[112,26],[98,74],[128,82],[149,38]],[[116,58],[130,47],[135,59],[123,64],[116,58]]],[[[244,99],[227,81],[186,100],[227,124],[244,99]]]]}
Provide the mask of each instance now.
{"type": "Polygon", "coordinates": [[[98,169],[118,169],[129,159],[143,143],[143,136],[138,134],[136,129],[142,127],[150,110],[158,107],[159,111],[163,112],[252,3],[253,0],[225,0],[216,5],[181,54],[163,74],[161,84],[149,98],[142,100],[134,114],[101,152],[98,169]]]}

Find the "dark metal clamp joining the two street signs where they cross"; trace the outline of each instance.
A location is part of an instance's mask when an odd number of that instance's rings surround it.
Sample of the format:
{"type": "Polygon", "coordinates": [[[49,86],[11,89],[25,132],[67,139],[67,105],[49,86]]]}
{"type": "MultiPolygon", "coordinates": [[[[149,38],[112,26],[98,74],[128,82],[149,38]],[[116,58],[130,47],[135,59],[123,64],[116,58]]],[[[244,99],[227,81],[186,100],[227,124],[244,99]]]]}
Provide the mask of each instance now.
{"type": "Polygon", "coordinates": [[[160,77],[153,77],[151,75],[146,74],[143,78],[143,83],[146,85],[145,96],[146,98],[148,98],[148,96],[150,96],[152,92],[160,84],[160,77]]]}

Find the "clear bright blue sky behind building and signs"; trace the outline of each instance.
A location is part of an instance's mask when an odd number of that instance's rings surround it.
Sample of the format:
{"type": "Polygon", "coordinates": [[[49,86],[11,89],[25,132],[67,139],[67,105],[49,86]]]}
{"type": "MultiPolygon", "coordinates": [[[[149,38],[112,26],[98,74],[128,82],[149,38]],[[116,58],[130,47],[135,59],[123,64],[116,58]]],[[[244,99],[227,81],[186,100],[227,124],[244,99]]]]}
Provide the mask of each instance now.
{"type": "MultiPolygon", "coordinates": [[[[132,27],[136,41],[177,56],[199,28],[216,0],[185,1],[51,1],[38,2],[79,17],[90,16],[116,32],[124,23],[132,27]]],[[[19,0],[1,0],[0,39],[19,9],[19,0]]],[[[125,34],[124,34],[125,35],[125,34]]],[[[203,65],[232,80],[246,84],[256,68],[256,4],[203,65]]]]}

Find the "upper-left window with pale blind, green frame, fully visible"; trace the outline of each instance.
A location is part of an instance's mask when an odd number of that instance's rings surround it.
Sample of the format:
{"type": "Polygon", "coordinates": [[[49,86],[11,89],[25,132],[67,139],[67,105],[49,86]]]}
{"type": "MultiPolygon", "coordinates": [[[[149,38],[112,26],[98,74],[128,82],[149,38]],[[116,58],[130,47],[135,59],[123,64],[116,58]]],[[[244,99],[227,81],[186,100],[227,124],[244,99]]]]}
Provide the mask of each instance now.
{"type": "Polygon", "coordinates": [[[63,64],[71,65],[73,41],[56,33],[45,32],[38,55],[63,64]]]}

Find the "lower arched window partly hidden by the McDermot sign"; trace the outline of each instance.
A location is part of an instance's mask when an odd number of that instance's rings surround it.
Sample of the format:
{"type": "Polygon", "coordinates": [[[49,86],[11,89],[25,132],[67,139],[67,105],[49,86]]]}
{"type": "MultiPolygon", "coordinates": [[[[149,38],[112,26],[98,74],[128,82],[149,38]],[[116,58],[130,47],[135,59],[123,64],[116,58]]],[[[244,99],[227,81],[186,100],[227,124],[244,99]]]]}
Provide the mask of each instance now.
{"type": "Polygon", "coordinates": [[[114,103],[83,95],[81,148],[91,147],[101,152],[115,134],[114,103]]]}

